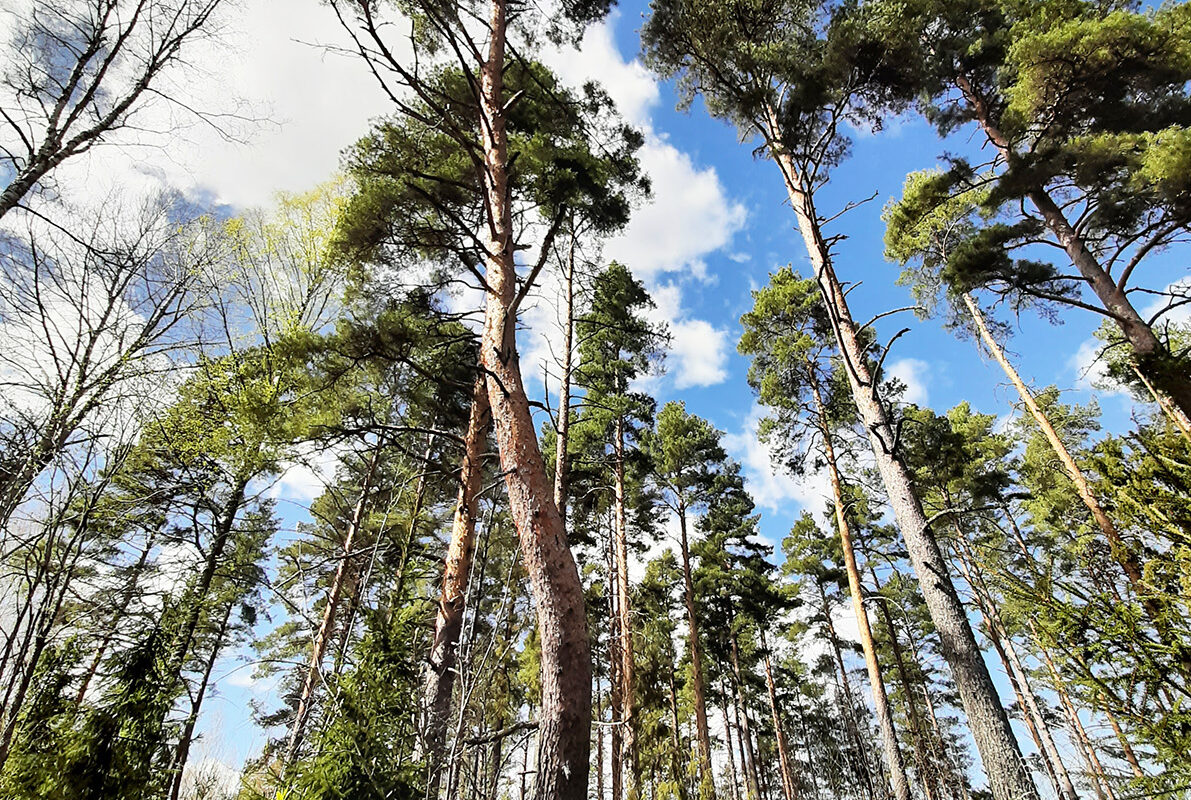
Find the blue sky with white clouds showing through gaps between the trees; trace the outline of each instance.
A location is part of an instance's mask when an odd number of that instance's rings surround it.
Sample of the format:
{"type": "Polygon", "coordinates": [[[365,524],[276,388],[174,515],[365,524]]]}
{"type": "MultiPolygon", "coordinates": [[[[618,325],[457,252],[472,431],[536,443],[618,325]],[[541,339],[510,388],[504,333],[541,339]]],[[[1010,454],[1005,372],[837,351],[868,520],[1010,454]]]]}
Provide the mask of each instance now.
{"type": "MultiPolygon", "coordinates": [[[[678,111],[674,87],[642,67],[644,12],[640,0],[624,2],[588,31],[578,51],[555,51],[547,61],[567,82],[600,81],[624,117],[647,135],[641,161],[653,181],[653,200],[637,208],[605,255],[647,283],[657,304],[655,317],[669,326],[667,371],[649,382],[659,404],[681,399],[690,412],[724,431],[762,514],[762,536],[777,544],[804,508],[822,512],[827,486],[819,476],[793,481],[771,465],[755,436],[763,410],[746,382],[748,363],[737,355],[736,342],[750,292],[786,264],[809,274],[805,250],[774,167],[755,160],[754,145],[741,143],[735,130],[710,118],[698,101],[678,111]]],[[[388,111],[363,65],[335,51],[345,44],[331,12],[314,0],[241,0],[225,13],[219,40],[192,54],[197,71],[175,76],[173,86],[195,107],[223,114],[223,132],[158,104],[145,117],[181,121],[181,131],[100,148],[63,168],[62,185],[87,186],[96,194],[167,186],[227,213],[266,206],[278,190],[310,189],[331,177],[341,151],[388,111]]],[[[946,148],[978,148],[969,133],[961,132],[946,148]]],[[[937,164],[943,151],[921,120],[888,120],[879,135],[855,136],[852,157],[823,189],[818,206],[824,215],[874,198],[833,229],[847,237],[836,269],[842,280],[859,283],[850,294],[858,320],[912,304],[908,288],[896,283],[898,268],[883,256],[880,214],[905,175],[937,164]]],[[[1164,286],[1185,276],[1174,260],[1160,261],[1155,269],[1158,275],[1143,282],[1164,286]]],[[[526,319],[520,346],[530,354],[528,370],[544,351],[548,317],[542,312],[535,318],[531,310],[526,319]]],[[[1062,325],[1034,314],[1005,321],[1015,330],[1008,349],[1028,382],[1056,383],[1071,392],[1068,401],[1096,398],[1109,427],[1129,424],[1131,401],[1093,392],[1089,380],[1098,318],[1075,312],[1062,325]]],[[[1010,413],[1016,395],[973,342],[909,313],[877,327],[883,340],[910,329],[887,361],[888,373],[908,387],[905,400],[939,412],[968,400],[980,412],[1010,413]]],[[[317,490],[313,481],[310,474],[287,475],[278,493],[305,502],[317,490]]],[[[264,688],[250,673],[238,663],[223,669],[202,724],[220,731],[204,745],[211,758],[235,763],[263,742],[245,713],[248,699],[264,688]]]]}

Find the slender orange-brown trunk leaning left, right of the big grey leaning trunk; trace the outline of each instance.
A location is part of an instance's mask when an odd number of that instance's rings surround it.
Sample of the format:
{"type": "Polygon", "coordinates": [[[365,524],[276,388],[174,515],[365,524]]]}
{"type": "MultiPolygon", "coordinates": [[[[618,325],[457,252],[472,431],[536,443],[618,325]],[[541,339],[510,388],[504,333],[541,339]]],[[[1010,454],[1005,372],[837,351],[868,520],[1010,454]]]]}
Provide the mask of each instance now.
{"type": "Polygon", "coordinates": [[[1121,569],[1124,570],[1125,577],[1129,579],[1129,585],[1141,599],[1141,604],[1146,608],[1146,613],[1159,627],[1159,631],[1162,633],[1162,638],[1167,643],[1172,638],[1177,638],[1177,636],[1170,630],[1170,625],[1166,623],[1168,611],[1165,610],[1162,604],[1154,596],[1153,589],[1146,586],[1141,565],[1137,563],[1137,560],[1129,545],[1121,537],[1116,525],[1112,524],[1112,520],[1109,519],[1109,515],[1104,512],[1104,507],[1100,506],[1099,500],[1097,500],[1096,495],[1092,493],[1092,487],[1087,483],[1087,479],[1084,476],[1079,464],[1075,463],[1071,451],[1067,450],[1067,445],[1059,438],[1059,433],[1054,430],[1054,425],[1050,424],[1046,412],[1039,407],[1037,401],[1034,399],[1034,393],[1029,390],[1021,376],[1017,374],[1017,370],[1011,363],[1009,363],[1009,360],[1005,358],[1005,354],[1000,349],[1000,345],[994,338],[992,338],[992,333],[984,323],[984,314],[980,313],[980,307],[977,305],[971,294],[964,295],[964,304],[967,306],[968,313],[972,314],[972,321],[975,324],[975,329],[980,333],[980,338],[984,339],[985,346],[989,348],[989,351],[992,354],[992,357],[996,358],[997,363],[1000,364],[1000,368],[1005,370],[1005,375],[1017,389],[1017,394],[1021,395],[1022,402],[1025,404],[1025,407],[1029,410],[1034,421],[1037,423],[1037,426],[1042,430],[1042,435],[1046,437],[1046,440],[1050,444],[1055,456],[1058,456],[1064,471],[1067,473],[1067,477],[1070,477],[1071,482],[1075,485],[1075,493],[1079,494],[1079,499],[1083,500],[1087,511],[1091,512],[1092,519],[1096,520],[1096,525],[1100,529],[1100,532],[1104,533],[1104,538],[1109,543],[1109,552],[1112,555],[1114,561],[1121,565],[1121,569]]]}

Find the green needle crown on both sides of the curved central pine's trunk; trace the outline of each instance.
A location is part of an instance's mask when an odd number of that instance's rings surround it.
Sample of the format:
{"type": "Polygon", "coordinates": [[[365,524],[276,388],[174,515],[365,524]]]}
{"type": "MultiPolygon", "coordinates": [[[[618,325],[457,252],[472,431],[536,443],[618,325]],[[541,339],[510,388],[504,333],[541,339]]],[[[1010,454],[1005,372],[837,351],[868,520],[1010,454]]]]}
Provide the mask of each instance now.
{"type": "MultiPolygon", "coordinates": [[[[594,235],[622,227],[631,199],[649,190],[636,161],[641,133],[616,121],[603,90],[588,85],[574,94],[540,63],[513,61],[504,80],[516,96],[506,117],[509,189],[516,207],[531,210],[516,224],[574,213],[594,235]]],[[[434,100],[381,123],[348,152],[356,192],[338,243],[356,260],[411,268],[428,260],[447,275],[475,270],[485,261],[476,237],[485,210],[474,87],[442,69],[423,96],[434,100]]]]}

